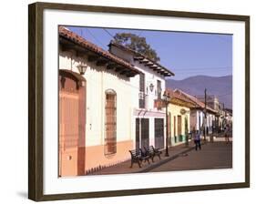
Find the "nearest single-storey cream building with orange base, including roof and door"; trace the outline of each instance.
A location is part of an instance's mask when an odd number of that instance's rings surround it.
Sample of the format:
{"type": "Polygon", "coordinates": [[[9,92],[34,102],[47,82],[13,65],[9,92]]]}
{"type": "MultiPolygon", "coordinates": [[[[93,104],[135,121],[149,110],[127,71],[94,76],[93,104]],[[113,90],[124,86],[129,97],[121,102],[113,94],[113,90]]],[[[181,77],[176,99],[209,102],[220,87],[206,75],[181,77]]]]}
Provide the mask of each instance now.
{"type": "Polygon", "coordinates": [[[60,177],[85,175],[130,158],[138,90],[131,78],[139,73],[124,60],[60,27],[60,177]]]}

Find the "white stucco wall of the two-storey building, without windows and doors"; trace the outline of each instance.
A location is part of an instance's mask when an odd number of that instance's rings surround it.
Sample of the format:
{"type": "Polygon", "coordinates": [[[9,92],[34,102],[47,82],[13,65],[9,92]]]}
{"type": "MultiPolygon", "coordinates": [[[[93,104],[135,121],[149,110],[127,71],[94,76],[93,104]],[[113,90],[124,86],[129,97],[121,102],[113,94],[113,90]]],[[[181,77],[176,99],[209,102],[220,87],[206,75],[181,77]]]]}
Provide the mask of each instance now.
{"type": "MultiPolygon", "coordinates": [[[[162,110],[158,110],[156,107],[154,107],[154,102],[155,99],[158,98],[157,95],[157,87],[158,87],[158,80],[161,83],[161,96],[163,95],[166,84],[165,84],[165,77],[159,75],[159,73],[153,71],[152,69],[148,68],[148,66],[144,66],[143,64],[138,63],[137,60],[133,59],[133,56],[116,47],[116,46],[111,46],[110,47],[110,52],[113,53],[116,56],[119,56],[120,58],[128,61],[130,64],[135,66],[140,72],[142,72],[145,75],[145,94],[146,94],[146,106],[141,110],[138,106],[138,94],[139,94],[139,76],[134,76],[130,78],[130,83],[131,86],[133,87],[133,91],[131,93],[131,103],[134,106],[134,112],[133,112],[133,117],[132,118],[132,127],[131,131],[134,134],[131,134],[133,136],[133,140],[136,140],[135,136],[135,131],[136,131],[136,125],[135,121],[137,117],[142,117],[142,118],[148,118],[149,119],[149,129],[148,129],[148,138],[149,138],[149,145],[155,146],[155,118],[163,118],[164,119],[164,146],[166,146],[166,115],[165,115],[165,108],[162,110]],[[154,88],[152,91],[150,91],[149,86],[153,85],[154,88]]],[[[135,148],[135,143],[133,148],[135,148]]]]}

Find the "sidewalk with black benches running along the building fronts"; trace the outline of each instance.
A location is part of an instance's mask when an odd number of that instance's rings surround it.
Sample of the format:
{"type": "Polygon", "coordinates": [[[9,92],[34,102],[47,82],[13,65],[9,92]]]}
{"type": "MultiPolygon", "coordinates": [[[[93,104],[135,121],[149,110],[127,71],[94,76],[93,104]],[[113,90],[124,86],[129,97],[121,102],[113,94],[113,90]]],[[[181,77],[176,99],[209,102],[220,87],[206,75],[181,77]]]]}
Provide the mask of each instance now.
{"type": "MultiPolygon", "coordinates": [[[[203,143],[203,142],[202,142],[203,143]]],[[[202,144],[203,145],[203,144],[202,144]]],[[[153,168],[158,168],[160,165],[169,162],[178,157],[186,156],[186,153],[194,148],[194,142],[189,141],[189,147],[186,148],[185,143],[180,144],[179,146],[169,148],[169,157],[165,157],[165,149],[162,150],[161,159],[155,157],[154,163],[150,159],[150,164],[148,162],[143,162],[141,168],[138,167],[138,164],[133,164],[133,167],[130,168],[130,160],[119,163],[112,167],[102,168],[96,172],[92,172],[87,175],[108,175],[108,174],[127,174],[127,173],[142,173],[148,172],[153,168]]]]}

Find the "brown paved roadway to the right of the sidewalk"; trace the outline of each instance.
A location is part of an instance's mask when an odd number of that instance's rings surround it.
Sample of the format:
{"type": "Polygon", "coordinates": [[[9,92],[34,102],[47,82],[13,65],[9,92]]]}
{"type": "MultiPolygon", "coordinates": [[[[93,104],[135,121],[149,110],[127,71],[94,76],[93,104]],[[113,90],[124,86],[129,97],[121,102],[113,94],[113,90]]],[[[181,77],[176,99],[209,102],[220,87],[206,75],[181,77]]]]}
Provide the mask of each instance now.
{"type": "Polygon", "coordinates": [[[201,150],[193,149],[187,153],[187,156],[170,160],[151,169],[150,172],[209,168],[232,168],[232,143],[207,143],[201,150]]]}

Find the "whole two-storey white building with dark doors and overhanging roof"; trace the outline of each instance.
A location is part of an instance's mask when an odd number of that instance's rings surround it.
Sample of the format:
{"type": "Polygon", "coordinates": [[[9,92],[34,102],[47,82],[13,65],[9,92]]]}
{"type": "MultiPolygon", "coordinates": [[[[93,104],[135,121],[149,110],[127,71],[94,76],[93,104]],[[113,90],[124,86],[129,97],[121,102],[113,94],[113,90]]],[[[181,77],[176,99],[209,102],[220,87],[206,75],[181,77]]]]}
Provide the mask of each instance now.
{"type": "Polygon", "coordinates": [[[166,147],[166,111],[162,105],[166,89],[165,76],[173,76],[167,68],[137,52],[110,43],[109,52],[133,65],[141,73],[130,78],[133,93],[132,138],[134,148],[166,147]]]}

